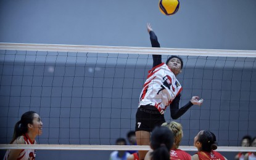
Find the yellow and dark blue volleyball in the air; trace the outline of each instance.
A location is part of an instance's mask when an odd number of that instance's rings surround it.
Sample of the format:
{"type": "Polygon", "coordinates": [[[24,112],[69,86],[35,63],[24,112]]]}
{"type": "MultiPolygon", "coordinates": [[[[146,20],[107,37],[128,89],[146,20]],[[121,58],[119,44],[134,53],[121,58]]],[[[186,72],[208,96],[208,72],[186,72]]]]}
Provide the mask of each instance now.
{"type": "Polygon", "coordinates": [[[178,0],[160,0],[159,9],[164,15],[173,15],[179,10],[180,1],[178,0]]]}

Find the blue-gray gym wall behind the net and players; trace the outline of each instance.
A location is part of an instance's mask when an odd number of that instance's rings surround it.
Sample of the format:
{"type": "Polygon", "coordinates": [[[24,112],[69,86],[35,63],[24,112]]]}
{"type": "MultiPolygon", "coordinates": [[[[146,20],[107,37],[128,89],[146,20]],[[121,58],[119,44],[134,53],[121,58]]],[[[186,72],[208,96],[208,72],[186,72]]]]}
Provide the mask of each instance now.
{"type": "MultiPolygon", "coordinates": [[[[146,23],[151,22],[162,47],[256,50],[256,1],[181,1],[171,17],[160,14],[157,2],[0,1],[0,42],[150,47],[146,23]]],[[[27,110],[38,111],[43,118],[39,143],[114,145],[116,138],[134,128],[151,60],[144,63],[142,57],[134,64],[131,57],[127,63],[119,57],[120,62],[105,65],[104,55],[95,65],[89,63],[95,60],[89,55],[86,64],[81,59],[75,65],[71,57],[65,65],[67,55],[52,63],[56,53],[47,59],[46,54],[1,51],[1,143],[9,142],[12,126],[27,110]]],[[[221,146],[237,146],[245,134],[254,137],[255,58],[213,58],[207,63],[205,57],[198,62],[183,58],[186,65],[178,76],[184,87],[181,103],[195,94],[205,102],[178,120],[184,129],[181,145],[192,145],[201,129],[213,130],[221,146]]],[[[37,156],[107,159],[109,153],[38,151],[37,156]]]]}

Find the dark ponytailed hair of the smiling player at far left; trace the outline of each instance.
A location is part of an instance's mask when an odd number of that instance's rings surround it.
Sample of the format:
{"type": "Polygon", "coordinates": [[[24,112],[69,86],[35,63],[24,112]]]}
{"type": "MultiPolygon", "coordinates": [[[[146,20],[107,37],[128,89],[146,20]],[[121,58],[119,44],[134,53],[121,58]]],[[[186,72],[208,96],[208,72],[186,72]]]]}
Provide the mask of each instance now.
{"type": "Polygon", "coordinates": [[[35,113],[35,111],[27,111],[26,113],[22,114],[20,121],[15,124],[14,135],[12,136],[12,141],[10,143],[13,143],[17,137],[20,137],[20,135],[26,134],[28,132],[28,124],[33,124],[35,113]]]}

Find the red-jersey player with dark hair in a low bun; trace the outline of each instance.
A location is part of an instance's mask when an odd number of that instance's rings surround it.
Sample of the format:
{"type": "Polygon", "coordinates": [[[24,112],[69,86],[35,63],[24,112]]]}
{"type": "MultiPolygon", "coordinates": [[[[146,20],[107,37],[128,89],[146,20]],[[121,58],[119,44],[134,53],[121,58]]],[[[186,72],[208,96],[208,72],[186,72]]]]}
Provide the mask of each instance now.
{"type": "Polygon", "coordinates": [[[194,146],[196,146],[198,152],[192,156],[192,159],[199,160],[225,160],[217,151],[217,143],[215,135],[206,130],[201,130],[194,138],[194,146]]]}

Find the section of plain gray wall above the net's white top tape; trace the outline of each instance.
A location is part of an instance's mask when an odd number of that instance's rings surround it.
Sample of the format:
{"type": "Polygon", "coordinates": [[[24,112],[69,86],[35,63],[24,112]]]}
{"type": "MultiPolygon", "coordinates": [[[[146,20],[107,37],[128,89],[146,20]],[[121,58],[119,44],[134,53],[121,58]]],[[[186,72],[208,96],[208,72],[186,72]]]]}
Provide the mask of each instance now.
{"type": "Polygon", "coordinates": [[[171,17],[158,1],[0,1],[0,42],[248,49],[256,45],[254,0],[181,1],[171,17]]]}

